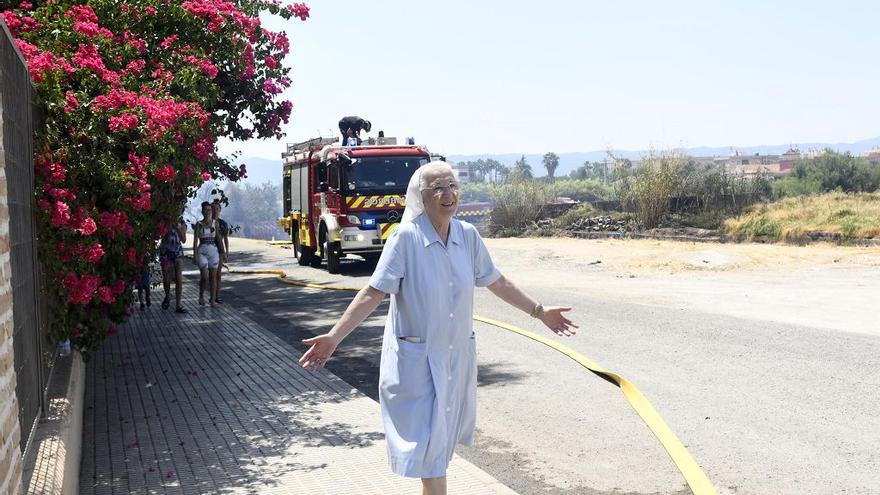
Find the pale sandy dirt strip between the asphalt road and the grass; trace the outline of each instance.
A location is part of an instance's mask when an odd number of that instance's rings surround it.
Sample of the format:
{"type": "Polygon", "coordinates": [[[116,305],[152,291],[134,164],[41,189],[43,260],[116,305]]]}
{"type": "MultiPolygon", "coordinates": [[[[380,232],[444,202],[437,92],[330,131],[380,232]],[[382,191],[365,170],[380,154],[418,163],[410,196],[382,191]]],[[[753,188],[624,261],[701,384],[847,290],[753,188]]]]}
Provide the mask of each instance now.
{"type": "Polygon", "coordinates": [[[880,247],[487,239],[525,286],[880,335],[880,247]]]}

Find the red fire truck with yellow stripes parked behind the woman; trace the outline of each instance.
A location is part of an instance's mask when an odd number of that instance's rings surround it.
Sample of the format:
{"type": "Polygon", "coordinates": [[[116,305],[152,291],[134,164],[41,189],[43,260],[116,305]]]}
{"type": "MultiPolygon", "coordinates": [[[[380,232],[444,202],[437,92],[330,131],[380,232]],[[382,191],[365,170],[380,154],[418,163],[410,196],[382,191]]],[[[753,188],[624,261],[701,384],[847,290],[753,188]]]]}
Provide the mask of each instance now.
{"type": "Polygon", "coordinates": [[[284,160],[283,196],[300,265],[339,273],[346,254],[375,257],[397,227],[412,174],[431,160],[424,146],[398,145],[395,138],[340,146],[315,138],[291,144],[284,160]]]}

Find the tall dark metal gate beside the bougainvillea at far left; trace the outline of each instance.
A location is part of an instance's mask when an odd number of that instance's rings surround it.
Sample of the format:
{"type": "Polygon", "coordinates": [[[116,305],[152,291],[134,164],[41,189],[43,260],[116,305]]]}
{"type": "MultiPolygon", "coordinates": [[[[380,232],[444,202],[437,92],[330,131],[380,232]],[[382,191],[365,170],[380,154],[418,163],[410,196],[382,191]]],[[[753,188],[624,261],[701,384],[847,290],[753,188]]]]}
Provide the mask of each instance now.
{"type": "Polygon", "coordinates": [[[0,106],[2,106],[3,153],[9,208],[9,251],[12,267],[13,347],[21,449],[25,450],[33,427],[45,405],[48,359],[44,359],[47,328],[44,299],[39,297],[42,277],[37,262],[34,220],[35,121],[41,119],[33,104],[33,88],[27,66],[0,24],[0,106]]]}

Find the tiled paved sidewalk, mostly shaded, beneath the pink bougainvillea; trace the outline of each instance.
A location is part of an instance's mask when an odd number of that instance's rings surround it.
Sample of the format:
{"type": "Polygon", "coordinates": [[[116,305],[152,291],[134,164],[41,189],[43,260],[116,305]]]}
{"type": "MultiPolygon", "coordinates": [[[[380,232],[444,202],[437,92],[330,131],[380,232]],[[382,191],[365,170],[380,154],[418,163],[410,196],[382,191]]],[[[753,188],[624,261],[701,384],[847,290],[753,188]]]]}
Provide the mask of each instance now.
{"type": "MultiPolygon", "coordinates": [[[[82,494],[417,494],[379,406],[226,307],[136,311],[88,363],[82,494]]],[[[514,494],[456,457],[450,494],[514,494]]]]}

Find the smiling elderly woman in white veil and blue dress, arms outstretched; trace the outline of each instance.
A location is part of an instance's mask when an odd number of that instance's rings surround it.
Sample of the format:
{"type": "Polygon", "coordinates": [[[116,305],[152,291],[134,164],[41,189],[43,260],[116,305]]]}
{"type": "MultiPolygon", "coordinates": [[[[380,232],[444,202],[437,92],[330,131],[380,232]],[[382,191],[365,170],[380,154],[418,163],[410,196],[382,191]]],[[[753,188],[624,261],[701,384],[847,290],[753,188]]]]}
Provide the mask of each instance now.
{"type": "Polygon", "coordinates": [[[454,220],[458,182],[445,162],[413,175],[400,227],[389,238],[369,284],[329,333],[306,339],[300,364],[324,366],[336,347],[391,294],[379,368],[379,403],[391,469],[422,479],[423,493],[446,493],[457,443],[471,445],[476,417],[474,287],[559,335],[576,332],[563,313],[520,290],[495,267],[477,230],[454,220]]]}

